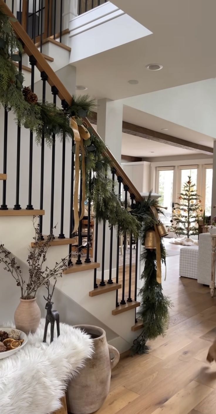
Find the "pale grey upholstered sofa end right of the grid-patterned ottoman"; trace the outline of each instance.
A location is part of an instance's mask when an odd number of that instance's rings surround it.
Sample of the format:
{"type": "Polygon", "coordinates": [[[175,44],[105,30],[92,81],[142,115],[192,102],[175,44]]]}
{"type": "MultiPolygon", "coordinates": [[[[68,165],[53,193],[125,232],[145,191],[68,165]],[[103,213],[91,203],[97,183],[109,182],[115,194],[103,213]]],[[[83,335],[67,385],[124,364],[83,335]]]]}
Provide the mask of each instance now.
{"type": "Polygon", "coordinates": [[[209,286],[211,281],[211,234],[199,235],[197,282],[209,286]]]}

